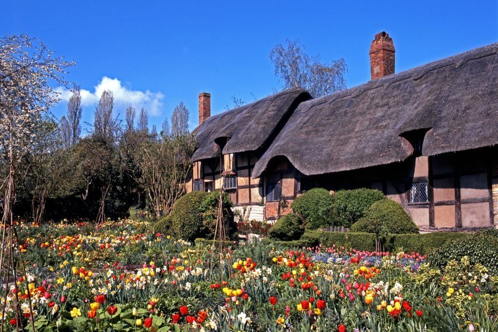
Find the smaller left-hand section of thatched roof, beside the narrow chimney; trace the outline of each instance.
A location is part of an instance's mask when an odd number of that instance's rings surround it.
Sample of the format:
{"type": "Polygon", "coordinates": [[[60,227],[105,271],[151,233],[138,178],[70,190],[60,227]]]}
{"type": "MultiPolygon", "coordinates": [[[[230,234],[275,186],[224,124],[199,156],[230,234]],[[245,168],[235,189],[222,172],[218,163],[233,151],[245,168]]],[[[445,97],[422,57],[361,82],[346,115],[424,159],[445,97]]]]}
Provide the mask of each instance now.
{"type": "Polygon", "coordinates": [[[282,125],[289,112],[310,98],[305,90],[292,88],[208,117],[194,130],[199,148],[192,160],[218,157],[221,147],[223,154],[257,150],[282,125]]]}

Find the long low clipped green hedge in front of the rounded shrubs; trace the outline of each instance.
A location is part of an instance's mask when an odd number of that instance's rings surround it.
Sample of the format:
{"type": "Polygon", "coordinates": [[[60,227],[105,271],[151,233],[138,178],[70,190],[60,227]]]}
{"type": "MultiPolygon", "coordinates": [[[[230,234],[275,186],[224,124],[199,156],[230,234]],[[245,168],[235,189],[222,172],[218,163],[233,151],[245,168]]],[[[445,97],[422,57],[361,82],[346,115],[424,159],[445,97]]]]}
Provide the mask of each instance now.
{"type": "MultiPolygon", "coordinates": [[[[402,248],[405,252],[419,252],[425,254],[455,239],[469,237],[472,234],[460,232],[433,232],[424,234],[389,234],[386,237],[387,251],[394,252],[402,248]]],[[[289,247],[316,246],[344,246],[348,249],[375,250],[375,235],[363,232],[324,232],[321,230],[306,230],[299,240],[274,241],[273,243],[289,247]]]]}

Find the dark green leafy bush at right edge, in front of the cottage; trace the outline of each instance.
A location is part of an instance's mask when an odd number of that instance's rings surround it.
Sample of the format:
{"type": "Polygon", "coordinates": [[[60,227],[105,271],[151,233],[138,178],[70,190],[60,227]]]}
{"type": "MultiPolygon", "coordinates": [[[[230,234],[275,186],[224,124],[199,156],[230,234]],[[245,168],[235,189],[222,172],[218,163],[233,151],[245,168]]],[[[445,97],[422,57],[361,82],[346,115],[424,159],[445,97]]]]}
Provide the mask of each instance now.
{"type": "Polygon", "coordinates": [[[473,264],[481,263],[490,274],[498,274],[498,230],[486,229],[448,241],[429,252],[427,260],[433,266],[444,267],[451,260],[468,256],[473,264]]]}

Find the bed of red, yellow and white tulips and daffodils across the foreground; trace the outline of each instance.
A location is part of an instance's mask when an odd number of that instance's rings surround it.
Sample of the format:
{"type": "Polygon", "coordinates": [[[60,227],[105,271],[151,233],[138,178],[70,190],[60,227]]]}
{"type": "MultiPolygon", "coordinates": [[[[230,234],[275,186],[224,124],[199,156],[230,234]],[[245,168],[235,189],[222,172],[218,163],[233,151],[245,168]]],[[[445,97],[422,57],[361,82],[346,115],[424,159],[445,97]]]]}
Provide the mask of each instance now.
{"type": "Polygon", "coordinates": [[[19,224],[28,273],[2,302],[7,329],[497,331],[497,278],[465,257],[440,270],[415,252],[227,242],[220,261],[150,229],[19,224]]]}

